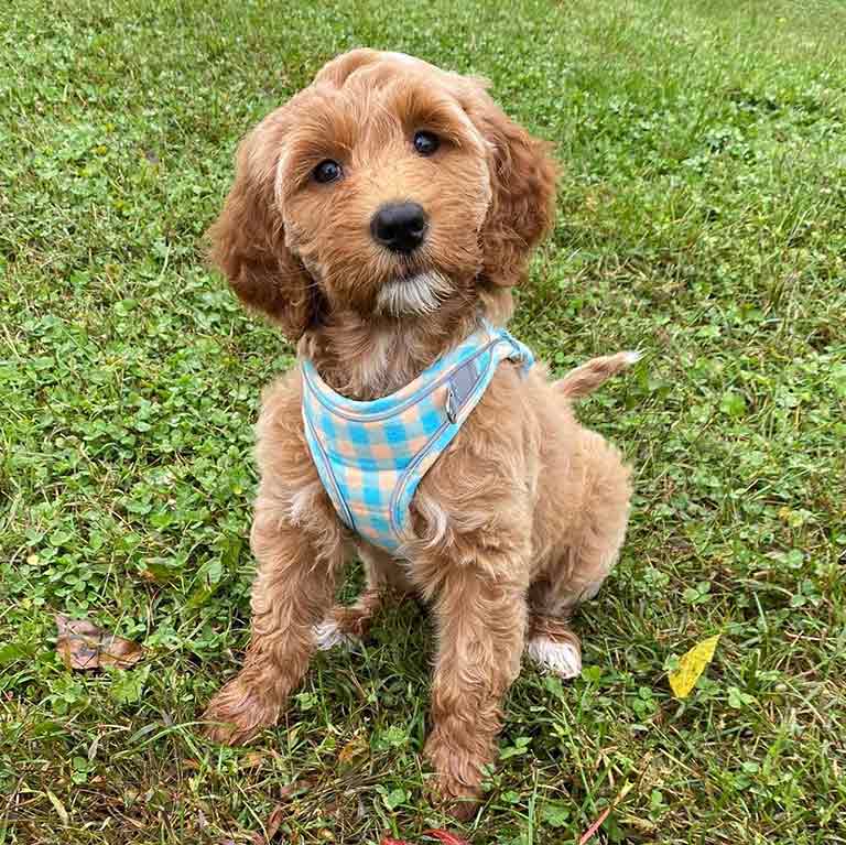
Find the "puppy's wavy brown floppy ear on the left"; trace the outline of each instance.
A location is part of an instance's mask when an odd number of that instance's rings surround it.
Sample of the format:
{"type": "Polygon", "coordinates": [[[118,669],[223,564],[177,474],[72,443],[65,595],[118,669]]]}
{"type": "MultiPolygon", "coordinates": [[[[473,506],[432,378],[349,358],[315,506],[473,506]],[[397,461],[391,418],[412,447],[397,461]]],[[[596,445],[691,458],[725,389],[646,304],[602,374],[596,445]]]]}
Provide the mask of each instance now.
{"type": "Polygon", "coordinates": [[[315,318],[313,284],[285,246],[274,182],[282,144],[279,111],[239,144],[235,183],[224,210],[208,229],[212,261],[241,301],[263,312],[292,343],[315,318]]]}

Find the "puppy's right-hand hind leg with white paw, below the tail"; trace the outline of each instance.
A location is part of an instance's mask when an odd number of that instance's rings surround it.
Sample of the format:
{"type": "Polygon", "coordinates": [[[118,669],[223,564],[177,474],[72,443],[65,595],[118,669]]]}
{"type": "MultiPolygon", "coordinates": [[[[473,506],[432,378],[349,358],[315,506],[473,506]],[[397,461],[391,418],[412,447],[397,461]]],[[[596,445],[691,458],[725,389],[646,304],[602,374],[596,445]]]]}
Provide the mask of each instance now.
{"type": "Polygon", "coordinates": [[[582,643],[570,627],[578,606],[599,592],[617,562],[629,518],[629,470],[601,436],[583,432],[583,516],[576,530],[529,589],[527,653],[561,678],[582,672],[582,643]]]}

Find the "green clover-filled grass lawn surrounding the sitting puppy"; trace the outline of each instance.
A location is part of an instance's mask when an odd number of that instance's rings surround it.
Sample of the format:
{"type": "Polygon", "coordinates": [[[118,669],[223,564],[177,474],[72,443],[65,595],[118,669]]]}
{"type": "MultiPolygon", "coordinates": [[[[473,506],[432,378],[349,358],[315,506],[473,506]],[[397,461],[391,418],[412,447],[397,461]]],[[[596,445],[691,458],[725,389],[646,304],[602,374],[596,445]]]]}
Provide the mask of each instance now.
{"type": "MultiPolygon", "coordinates": [[[[0,844],[422,841],[431,632],[387,614],[248,749],[196,719],[245,647],[261,387],[291,349],[204,268],[237,139],[360,44],[489,76],[556,144],[514,331],[642,348],[622,560],[572,684],[508,701],[474,845],[846,842],[846,10],[837,2],[0,9],[0,844]],[[53,614],[143,643],[69,673],[53,614]],[[668,669],[723,638],[686,701],[668,669]],[[293,786],[292,786],[293,784],[293,786]]],[[[351,595],[357,578],[347,585],[351,595]]]]}

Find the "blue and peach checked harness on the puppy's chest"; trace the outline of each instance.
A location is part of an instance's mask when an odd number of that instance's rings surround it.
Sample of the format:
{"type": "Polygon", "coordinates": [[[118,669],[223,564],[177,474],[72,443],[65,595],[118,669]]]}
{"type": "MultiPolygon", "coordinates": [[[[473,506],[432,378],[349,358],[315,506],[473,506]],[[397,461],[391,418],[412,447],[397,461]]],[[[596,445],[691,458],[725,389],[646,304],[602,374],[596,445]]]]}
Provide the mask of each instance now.
{"type": "Polygon", "coordinates": [[[523,376],[534,362],[528,347],[486,321],[410,384],[369,402],[339,396],[303,359],[305,437],[341,521],[388,552],[411,539],[417,485],[505,359],[520,364],[523,376]]]}

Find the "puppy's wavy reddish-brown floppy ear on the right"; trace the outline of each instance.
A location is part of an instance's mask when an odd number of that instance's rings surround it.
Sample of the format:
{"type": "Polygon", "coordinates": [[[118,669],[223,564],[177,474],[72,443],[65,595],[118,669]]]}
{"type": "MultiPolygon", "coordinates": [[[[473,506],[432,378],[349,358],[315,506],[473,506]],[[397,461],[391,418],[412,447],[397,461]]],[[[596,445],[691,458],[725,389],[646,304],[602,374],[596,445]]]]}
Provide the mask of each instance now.
{"type": "Polygon", "coordinates": [[[464,108],[488,143],[492,196],[481,229],[484,280],[510,288],[525,275],[529,256],[555,218],[555,164],[550,144],[514,123],[470,79],[464,108]]]}

